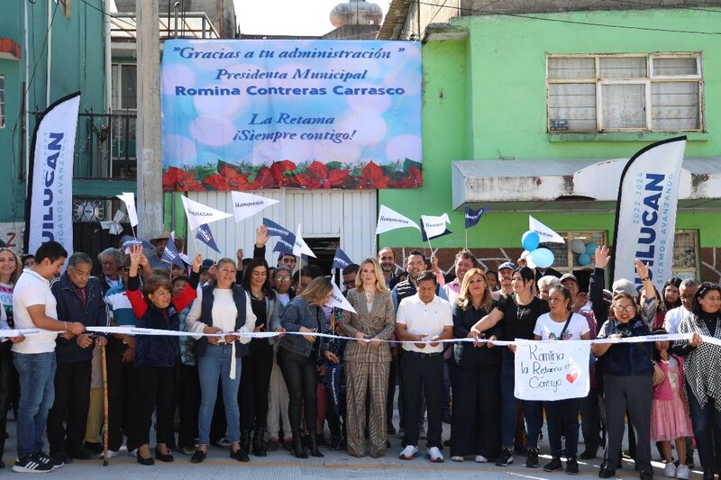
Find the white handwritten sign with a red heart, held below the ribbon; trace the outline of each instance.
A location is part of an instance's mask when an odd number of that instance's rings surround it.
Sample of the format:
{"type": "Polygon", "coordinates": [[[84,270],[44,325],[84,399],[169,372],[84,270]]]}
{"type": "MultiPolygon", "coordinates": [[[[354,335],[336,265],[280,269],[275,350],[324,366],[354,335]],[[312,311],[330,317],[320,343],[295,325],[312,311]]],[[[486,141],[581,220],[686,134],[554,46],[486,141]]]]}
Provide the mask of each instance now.
{"type": "Polygon", "coordinates": [[[521,400],[563,400],[589,394],[589,341],[531,341],[516,346],[516,387],[521,400]]]}

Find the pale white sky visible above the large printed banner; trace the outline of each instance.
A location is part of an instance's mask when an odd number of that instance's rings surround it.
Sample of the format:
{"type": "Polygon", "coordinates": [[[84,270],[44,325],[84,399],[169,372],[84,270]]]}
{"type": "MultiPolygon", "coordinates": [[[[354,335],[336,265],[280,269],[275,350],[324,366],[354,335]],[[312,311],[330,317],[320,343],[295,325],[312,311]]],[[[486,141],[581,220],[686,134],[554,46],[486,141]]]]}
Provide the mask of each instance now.
{"type": "MultiPolygon", "coordinates": [[[[233,0],[241,33],[318,36],[333,30],[329,20],[335,5],[346,0],[233,0]]],[[[388,12],[390,0],[373,3],[388,12]]]]}

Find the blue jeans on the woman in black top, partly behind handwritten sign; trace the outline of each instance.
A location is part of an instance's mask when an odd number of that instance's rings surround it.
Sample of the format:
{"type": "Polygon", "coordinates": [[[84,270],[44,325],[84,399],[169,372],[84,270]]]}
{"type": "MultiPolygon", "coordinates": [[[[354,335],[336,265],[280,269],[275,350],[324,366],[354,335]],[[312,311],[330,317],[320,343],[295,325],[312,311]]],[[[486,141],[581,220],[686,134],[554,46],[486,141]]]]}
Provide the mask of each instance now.
{"type": "MultiPolygon", "coordinates": [[[[518,419],[518,402],[514,396],[516,386],[515,354],[505,349],[501,358],[501,445],[513,448],[518,419]]],[[[540,402],[523,401],[525,425],[528,430],[526,447],[538,448],[538,436],[541,434],[543,415],[540,402]]]]}

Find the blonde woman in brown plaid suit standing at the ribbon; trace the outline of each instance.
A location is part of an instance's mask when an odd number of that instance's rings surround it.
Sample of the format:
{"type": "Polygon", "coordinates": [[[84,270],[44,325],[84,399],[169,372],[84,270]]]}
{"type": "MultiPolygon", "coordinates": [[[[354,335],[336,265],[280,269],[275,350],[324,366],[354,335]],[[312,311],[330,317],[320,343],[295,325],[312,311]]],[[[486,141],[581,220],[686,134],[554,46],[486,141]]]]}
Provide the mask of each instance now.
{"type": "Polygon", "coordinates": [[[382,457],[386,450],[386,397],[390,349],[388,340],[396,328],[396,312],[380,265],[374,258],[360,264],[356,288],[348,301],[356,313],[344,312],[341,331],[349,341],[343,355],[346,384],[346,430],[348,453],[365,453],[366,393],[370,394],[370,456],[382,457]]]}

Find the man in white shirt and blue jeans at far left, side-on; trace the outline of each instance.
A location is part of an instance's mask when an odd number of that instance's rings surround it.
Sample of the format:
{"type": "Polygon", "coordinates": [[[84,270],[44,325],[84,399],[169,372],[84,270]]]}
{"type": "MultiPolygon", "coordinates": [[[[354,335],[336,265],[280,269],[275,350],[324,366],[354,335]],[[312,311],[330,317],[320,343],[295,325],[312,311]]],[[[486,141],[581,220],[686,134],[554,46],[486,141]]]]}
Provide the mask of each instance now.
{"type": "Polygon", "coordinates": [[[43,473],[63,465],[42,451],[42,434],[55,400],[55,332],[69,339],[85,331],[82,323],[57,320],[50,279],[59,275],[66,257],[68,252],[57,241],[43,243],[35,253],[35,265],[23,270],[13,293],[15,328],[49,331],[28,335],[13,345],[13,363],[20,376],[15,472],[43,473]]]}

